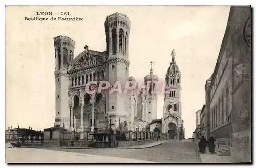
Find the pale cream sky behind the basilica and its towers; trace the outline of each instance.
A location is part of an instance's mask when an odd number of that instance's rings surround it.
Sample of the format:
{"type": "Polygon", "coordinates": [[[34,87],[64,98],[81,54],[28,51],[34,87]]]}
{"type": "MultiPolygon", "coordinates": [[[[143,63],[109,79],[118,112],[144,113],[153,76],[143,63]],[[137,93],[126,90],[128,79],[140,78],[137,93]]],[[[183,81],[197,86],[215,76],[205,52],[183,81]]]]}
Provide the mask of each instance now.
{"type": "MultiPolygon", "coordinates": [[[[205,104],[205,80],[214,70],[229,9],[230,6],[7,7],[6,128],[17,127],[18,123],[34,130],[54,125],[53,37],[71,37],[76,42],[75,56],[85,44],[90,50],[104,51],[104,21],[107,15],[118,11],[131,21],[129,76],[143,80],[149,74],[150,61],[154,61],[153,73],[163,80],[171,62],[170,53],[175,49],[181,71],[185,137],[191,137],[195,113],[205,104]],[[84,21],[24,21],[24,17],[36,17],[37,11],[68,11],[70,17],[84,21]]],[[[163,115],[163,103],[164,95],[158,95],[158,119],[163,115]]]]}

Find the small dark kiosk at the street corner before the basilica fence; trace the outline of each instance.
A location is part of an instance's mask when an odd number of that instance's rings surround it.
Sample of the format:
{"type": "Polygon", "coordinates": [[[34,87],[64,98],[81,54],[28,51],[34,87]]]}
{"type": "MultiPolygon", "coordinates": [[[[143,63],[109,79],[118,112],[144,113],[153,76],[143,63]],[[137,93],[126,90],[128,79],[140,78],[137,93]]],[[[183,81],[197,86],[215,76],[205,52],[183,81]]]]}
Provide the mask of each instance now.
{"type": "Polygon", "coordinates": [[[92,141],[89,143],[90,147],[94,148],[115,148],[117,147],[116,134],[110,130],[99,130],[92,135],[92,141]]]}

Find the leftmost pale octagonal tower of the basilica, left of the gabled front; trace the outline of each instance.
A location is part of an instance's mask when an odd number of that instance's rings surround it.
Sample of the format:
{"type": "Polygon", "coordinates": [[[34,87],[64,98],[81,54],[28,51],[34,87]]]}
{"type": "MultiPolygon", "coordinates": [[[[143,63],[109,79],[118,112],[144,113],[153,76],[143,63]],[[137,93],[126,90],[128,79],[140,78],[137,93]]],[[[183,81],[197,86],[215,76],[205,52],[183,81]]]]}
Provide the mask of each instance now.
{"type": "Polygon", "coordinates": [[[55,99],[56,99],[56,124],[61,127],[70,126],[69,108],[69,77],[67,71],[74,58],[75,41],[66,36],[54,38],[55,47],[55,99]]]}

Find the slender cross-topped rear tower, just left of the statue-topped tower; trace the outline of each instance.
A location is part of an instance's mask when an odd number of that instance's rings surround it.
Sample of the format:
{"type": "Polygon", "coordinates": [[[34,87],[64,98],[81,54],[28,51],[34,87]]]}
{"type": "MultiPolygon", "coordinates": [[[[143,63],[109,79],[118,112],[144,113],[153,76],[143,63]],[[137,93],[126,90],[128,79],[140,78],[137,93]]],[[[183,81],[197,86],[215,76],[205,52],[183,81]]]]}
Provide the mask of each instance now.
{"type": "Polygon", "coordinates": [[[153,74],[152,63],[150,62],[150,75],[144,77],[144,83],[148,88],[148,110],[145,121],[151,122],[153,119],[157,119],[157,83],[158,76],[153,74]],[[149,85],[149,86],[148,86],[149,85]],[[155,87],[156,86],[156,87],[155,87]]]}

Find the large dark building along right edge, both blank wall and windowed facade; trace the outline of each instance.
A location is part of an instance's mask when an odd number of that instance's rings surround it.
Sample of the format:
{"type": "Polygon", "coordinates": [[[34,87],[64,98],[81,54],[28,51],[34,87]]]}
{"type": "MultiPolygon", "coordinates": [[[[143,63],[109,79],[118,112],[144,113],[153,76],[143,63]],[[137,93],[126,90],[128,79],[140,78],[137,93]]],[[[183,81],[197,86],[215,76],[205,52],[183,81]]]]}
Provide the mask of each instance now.
{"type": "Polygon", "coordinates": [[[250,17],[250,6],[231,6],[214,73],[205,85],[210,136],[242,162],[251,161],[250,17]]]}

